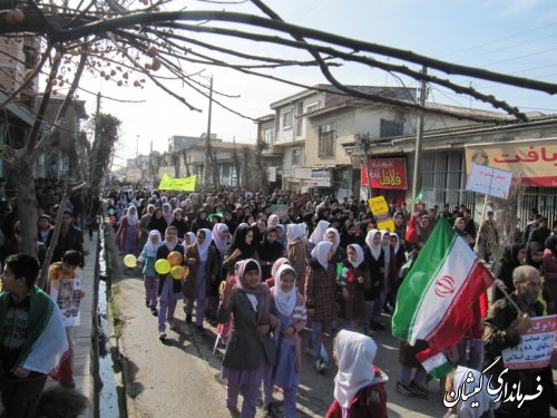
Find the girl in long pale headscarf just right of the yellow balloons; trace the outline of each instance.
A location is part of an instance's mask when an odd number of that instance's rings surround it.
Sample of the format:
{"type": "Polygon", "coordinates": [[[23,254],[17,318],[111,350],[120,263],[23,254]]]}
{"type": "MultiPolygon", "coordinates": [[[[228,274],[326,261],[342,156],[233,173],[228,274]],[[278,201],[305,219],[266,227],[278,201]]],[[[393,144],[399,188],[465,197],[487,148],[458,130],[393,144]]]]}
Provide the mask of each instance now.
{"type": "Polygon", "coordinates": [[[195,328],[199,333],[205,333],[203,320],[205,318],[205,302],[211,291],[211,285],[216,281],[217,263],[216,250],[211,245],[211,231],[197,231],[196,242],[186,249],[187,274],[184,279],[183,293],[185,299],[186,323],[192,323],[194,300],[195,328]]]}

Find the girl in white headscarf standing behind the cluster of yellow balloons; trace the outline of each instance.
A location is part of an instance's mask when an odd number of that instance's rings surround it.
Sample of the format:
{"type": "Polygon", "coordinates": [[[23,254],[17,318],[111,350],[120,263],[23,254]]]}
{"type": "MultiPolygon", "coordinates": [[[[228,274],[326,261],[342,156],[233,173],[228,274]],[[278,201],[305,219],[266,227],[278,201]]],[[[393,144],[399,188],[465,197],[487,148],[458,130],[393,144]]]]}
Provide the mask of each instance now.
{"type": "Polygon", "coordinates": [[[174,311],[176,303],[182,299],[182,281],[173,279],[169,274],[170,263],[167,257],[172,252],[177,252],[182,256],[184,254],[184,246],[178,243],[178,230],[175,226],[166,229],[165,241],[157,249],[155,262],[155,271],[158,273],[158,339],[163,342],[166,340],[166,320],[170,330],[176,328],[174,311]]]}

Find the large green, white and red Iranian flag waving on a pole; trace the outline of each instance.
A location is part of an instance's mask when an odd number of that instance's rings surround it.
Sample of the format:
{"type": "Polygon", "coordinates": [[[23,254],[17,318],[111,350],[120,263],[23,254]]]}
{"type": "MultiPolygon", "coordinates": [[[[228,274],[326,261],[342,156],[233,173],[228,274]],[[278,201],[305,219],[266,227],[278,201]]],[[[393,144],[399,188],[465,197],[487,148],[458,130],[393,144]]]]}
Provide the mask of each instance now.
{"type": "Polygon", "coordinates": [[[475,323],[472,305],[492,281],[468,243],[440,218],[399,289],[393,336],[451,349],[475,323]]]}

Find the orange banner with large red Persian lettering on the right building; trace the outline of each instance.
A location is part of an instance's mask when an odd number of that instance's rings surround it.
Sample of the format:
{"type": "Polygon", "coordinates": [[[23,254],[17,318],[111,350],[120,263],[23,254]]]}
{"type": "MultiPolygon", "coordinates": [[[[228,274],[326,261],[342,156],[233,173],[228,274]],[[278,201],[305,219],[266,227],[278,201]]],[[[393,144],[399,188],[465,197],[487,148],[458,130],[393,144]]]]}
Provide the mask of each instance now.
{"type": "Polygon", "coordinates": [[[525,186],[557,187],[557,138],[466,146],[466,169],[472,163],[511,172],[525,186]]]}

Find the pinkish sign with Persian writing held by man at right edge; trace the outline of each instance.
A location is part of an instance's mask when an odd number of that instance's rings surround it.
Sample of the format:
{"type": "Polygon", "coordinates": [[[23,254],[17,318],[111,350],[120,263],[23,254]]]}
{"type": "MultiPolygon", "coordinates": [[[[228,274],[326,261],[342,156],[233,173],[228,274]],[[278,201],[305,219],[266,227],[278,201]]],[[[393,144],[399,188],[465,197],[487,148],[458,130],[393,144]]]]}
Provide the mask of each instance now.
{"type": "Polygon", "coordinates": [[[551,361],[557,337],[557,315],[531,319],[530,330],[520,336],[520,343],[502,350],[502,361],[508,369],[539,369],[551,361]]]}

